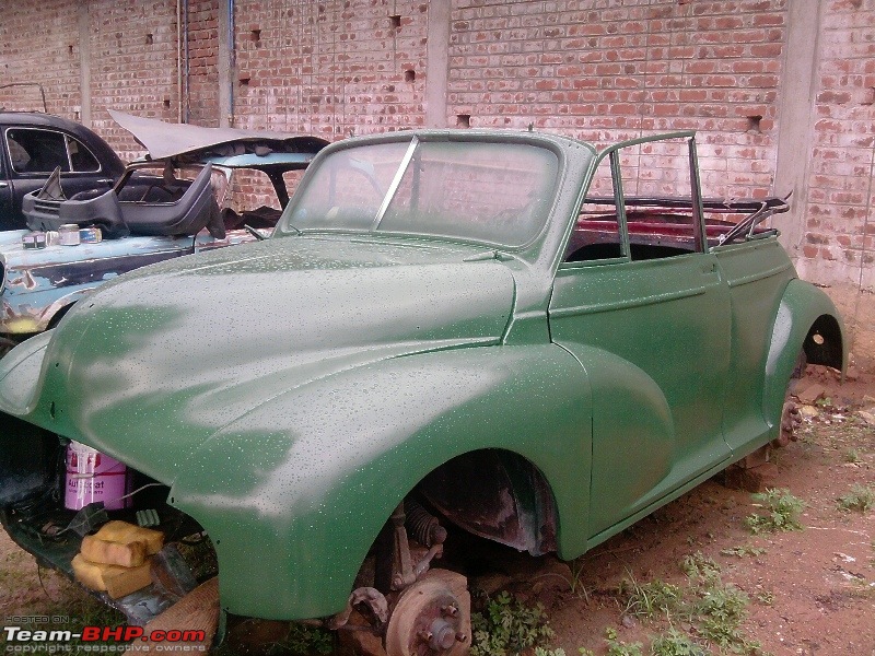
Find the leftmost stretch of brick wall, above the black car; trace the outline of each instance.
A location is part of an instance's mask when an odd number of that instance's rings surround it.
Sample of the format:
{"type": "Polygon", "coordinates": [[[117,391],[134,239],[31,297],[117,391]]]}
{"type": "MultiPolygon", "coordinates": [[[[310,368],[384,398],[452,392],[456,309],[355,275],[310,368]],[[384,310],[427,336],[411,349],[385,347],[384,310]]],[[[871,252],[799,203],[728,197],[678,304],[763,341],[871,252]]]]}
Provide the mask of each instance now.
{"type": "MultiPolygon", "coordinates": [[[[0,16],[3,82],[38,82],[51,114],[82,119],[83,60],[90,70],[90,127],[122,159],[142,149],[109,118],[107,108],[176,121],[218,125],[219,0],[189,0],[189,93],[177,35],[176,0],[119,3],[91,0],[80,43],[81,2],[13,2],[0,16]],[[38,27],[36,27],[38,26],[38,27]]],[[[38,87],[0,89],[0,106],[42,110],[38,87]]]]}

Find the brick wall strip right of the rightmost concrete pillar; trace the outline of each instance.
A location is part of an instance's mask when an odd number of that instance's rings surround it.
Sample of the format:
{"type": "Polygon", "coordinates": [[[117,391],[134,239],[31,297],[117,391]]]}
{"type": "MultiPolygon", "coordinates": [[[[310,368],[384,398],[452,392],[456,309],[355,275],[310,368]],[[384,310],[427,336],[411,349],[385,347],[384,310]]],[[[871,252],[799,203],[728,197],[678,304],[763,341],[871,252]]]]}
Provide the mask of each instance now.
{"type": "Polygon", "coordinates": [[[819,92],[800,268],[828,282],[850,280],[872,290],[875,11],[871,3],[829,2],[820,39],[819,92]]]}

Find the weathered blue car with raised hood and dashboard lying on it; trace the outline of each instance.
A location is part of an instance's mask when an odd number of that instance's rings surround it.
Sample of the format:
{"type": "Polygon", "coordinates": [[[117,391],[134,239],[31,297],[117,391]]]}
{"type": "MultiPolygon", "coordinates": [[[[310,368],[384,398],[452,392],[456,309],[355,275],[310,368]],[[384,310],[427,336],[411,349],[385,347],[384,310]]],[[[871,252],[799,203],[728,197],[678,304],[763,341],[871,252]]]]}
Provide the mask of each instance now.
{"type": "MultiPolygon", "coordinates": [[[[268,236],[300,172],[328,144],[310,136],[112,114],[149,155],[129,164],[112,189],[67,199],[50,180],[25,197],[31,230],[0,233],[0,352],[52,328],[74,303],[121,273],[268,236]],[[70,224],[85,229],[82,237],[91,243],[59,243],[55,231],[69,232],[70,224]],[[33,247],[35,235],[48,245],[33,247]]],[[[66,177],[60,187],[67,196],[66,177]]]]}

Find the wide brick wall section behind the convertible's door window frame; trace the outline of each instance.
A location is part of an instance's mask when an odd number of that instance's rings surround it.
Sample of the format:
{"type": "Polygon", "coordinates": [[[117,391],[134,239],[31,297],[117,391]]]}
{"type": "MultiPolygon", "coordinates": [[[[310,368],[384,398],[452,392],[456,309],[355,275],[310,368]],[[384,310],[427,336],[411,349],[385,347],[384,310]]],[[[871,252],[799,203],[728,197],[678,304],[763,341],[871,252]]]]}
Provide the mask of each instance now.
{"type": "Polygon", "coordinates": [[[450,124],[534,124],[599,144],[698,130],[705,194],[765,196],[784,10],[785,0],[457,0],[450,124]]]}

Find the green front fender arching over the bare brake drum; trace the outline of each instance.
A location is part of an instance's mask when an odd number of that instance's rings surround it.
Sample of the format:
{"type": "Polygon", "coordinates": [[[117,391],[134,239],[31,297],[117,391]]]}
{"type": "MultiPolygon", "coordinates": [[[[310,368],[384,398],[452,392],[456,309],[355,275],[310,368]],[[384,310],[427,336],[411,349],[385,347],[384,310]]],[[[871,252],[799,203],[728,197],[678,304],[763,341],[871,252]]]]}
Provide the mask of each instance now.
{"type": "Polygon", "coordinates": [[[551,344],[385,360],[292,389],[223,429],[186,462],[171,503],[211,536],[228,611],[324,617],[343,608],[399,501],[465,453],[529,460],[551,485],[560,551],[584,542],[591,410],[583,368],[551,344]]]}

